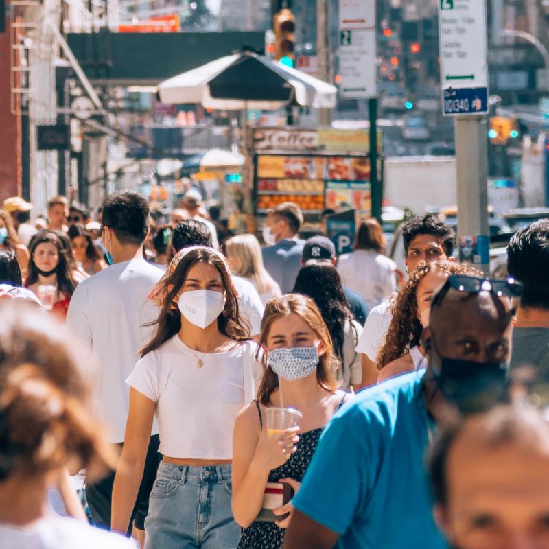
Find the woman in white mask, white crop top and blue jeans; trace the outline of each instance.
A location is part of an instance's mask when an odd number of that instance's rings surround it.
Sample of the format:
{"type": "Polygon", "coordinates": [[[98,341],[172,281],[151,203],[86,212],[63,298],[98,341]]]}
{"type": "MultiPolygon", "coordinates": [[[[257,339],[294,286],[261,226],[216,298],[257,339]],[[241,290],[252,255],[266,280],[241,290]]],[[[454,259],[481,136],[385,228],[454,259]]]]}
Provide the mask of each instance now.
{"type": "Polygon", "coordinates": [[[128,377],[130,411],[113,489],[112,528],[126,531],[153,417],[163,458],[145,520],[145,548],[236,548],[232,433],[255,397],[257,344],[238,313],[229,266],[212,248],[178,253],[149,295],[156,335],[128,377]]]}

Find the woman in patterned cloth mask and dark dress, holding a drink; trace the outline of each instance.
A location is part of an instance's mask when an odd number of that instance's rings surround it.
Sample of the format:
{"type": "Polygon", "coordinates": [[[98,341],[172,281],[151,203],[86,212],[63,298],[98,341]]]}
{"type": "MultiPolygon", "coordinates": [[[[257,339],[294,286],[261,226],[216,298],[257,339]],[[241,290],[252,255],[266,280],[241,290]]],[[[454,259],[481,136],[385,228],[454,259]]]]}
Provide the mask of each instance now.
{"type": "Polygon", "coordinates": [[[294,492],[299,489],[320,434],[351,395],[338,390],[331,338],[312,299],[289,294],[270,300],[259,344],[266,369],[257,400],[235,423],[232,505],[236,521],[244,527],[239,549],[280,549],[292,505],[272,510],[281,517],[277,521],[256,519],[262,508],[270,509],[270,495],[280,493],[282,484],[294,492]],[[299,436],[295,429],[266,436],[266,409],[281,406],[303,414],[299,436]]]}

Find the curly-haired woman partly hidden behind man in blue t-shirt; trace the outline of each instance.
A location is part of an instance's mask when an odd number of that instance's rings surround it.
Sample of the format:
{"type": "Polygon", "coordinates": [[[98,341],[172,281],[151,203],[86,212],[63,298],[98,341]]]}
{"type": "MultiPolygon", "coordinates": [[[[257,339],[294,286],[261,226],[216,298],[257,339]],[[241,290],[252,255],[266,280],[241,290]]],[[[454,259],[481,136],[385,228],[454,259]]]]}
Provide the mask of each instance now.
{"type": "Polygon", "coordinates": [[[393,320],[378,355],[377,382],[426,366],[421,333],[429,325],[432,297],[451,274],[482,276],[478,269],[452,261],[423,262],[410,274],[392,305],[393,320]]]}

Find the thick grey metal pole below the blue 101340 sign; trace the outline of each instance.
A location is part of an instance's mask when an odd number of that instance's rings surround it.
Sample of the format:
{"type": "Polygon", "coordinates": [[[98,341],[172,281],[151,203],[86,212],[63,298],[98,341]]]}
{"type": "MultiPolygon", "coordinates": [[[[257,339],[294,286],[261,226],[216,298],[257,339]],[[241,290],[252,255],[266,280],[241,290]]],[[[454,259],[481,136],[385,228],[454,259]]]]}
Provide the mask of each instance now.
{"type": "MultiPolygon", "coordinates": [[[[486,117],[456,117],[458,237],[481,237],[474,263],[489,274],[486,117]]],[[[465,259],[462,257],[461,259],[465,259]]]]}

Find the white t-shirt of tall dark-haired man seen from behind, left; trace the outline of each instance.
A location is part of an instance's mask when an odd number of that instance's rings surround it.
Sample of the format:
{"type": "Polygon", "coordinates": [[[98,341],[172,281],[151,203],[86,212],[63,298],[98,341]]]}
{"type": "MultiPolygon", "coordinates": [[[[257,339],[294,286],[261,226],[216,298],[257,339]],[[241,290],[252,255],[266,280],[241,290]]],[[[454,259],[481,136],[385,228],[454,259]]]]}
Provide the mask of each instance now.
{"type": "Polygon", "coordinates": [[[154,335],[156,327],[146,324],[159,318],[160,309],[147,296],[162,274],[141,258],[117,263],[81,282],[69,304],[67,326],[84,340],[100,367],[84,375],[112,442],[124,441],[130,406],[126,378],[139,349],[154,335]]]}

